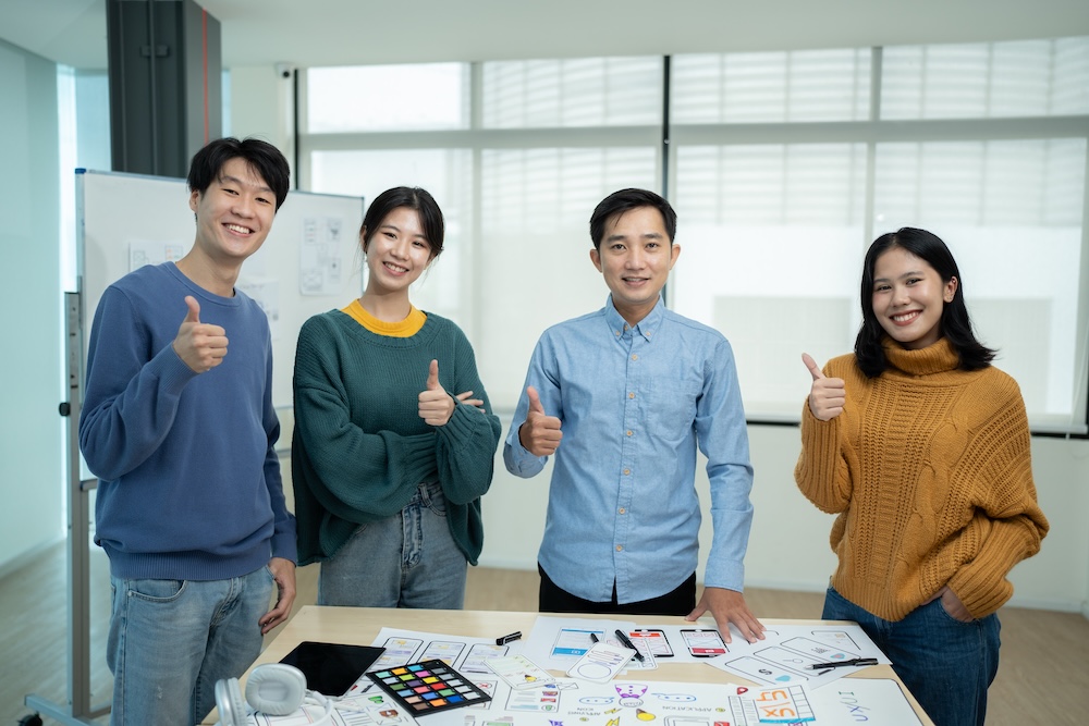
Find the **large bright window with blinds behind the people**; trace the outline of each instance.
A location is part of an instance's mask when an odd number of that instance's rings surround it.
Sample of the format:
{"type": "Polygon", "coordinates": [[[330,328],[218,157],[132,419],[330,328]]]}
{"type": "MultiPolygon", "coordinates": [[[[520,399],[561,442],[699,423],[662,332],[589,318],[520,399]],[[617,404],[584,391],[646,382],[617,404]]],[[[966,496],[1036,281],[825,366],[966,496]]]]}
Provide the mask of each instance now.
{"type": "Polygon", "coordinates": [[[750,419],[797,421],[800,354],[852,349],[862,256],[909,225],[950,245],[1033,428],[1086,431],[1089,38],[674,56],[668,99],[664,67],[314,70],[304,184],[433,187],[457,236],[419,295],[473,340],[501,409],[541,331],[605,299],[594,206],[643,186],[680,218],[668,304],[731,340],[750,419]]]}

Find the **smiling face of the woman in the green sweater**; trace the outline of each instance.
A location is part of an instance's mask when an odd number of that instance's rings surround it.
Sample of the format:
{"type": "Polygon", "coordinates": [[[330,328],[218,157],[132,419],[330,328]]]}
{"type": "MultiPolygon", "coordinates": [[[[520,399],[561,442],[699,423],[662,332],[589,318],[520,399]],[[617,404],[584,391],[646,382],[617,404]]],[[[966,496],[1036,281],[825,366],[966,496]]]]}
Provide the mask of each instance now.
{"type": "Polygon", "coordinates": [[[368,295],[408,295],[431,261],[431,244],[415,209],[397,207],[371,233],[363,230],[367,254],[368,295]]]}

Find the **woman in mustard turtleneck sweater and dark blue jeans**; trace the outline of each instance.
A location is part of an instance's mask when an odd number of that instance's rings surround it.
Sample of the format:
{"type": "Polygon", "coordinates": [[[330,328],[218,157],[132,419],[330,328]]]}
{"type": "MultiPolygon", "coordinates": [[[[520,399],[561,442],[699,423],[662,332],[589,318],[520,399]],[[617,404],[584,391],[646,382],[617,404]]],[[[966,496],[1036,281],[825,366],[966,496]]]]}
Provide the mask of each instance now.
{"type": "Polygon", "coordinates": [[[1017,383],[972,334],[945,244],[904,227],[866,255],[855,353],[808,355],[795,479],[837,514],[823,617],[855,620],[939,726],[983,723],[1010,570],[1048,532],[1017,383]]]}

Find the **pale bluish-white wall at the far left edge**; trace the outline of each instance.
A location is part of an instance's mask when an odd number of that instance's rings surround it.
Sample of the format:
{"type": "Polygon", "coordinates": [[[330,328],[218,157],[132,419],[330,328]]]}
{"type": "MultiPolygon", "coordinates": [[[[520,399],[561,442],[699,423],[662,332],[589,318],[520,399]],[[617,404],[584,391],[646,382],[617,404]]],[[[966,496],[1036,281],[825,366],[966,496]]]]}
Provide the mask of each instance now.
{"type": "Polygon", "coordinates": [[[0,41],[0,575],[63,536],[57,66],[0,41]]]}

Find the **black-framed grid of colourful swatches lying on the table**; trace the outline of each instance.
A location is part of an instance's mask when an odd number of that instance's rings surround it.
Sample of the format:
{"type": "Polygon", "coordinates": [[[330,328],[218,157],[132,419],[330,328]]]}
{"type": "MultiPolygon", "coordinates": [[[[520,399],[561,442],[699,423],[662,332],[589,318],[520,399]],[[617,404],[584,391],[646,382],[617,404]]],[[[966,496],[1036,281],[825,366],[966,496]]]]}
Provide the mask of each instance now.
{"type": "Polygon", "coordinates": [[[476,684],[439,660],[375,670],[367,677],[417,716],[491,700],[476,684]]]}

